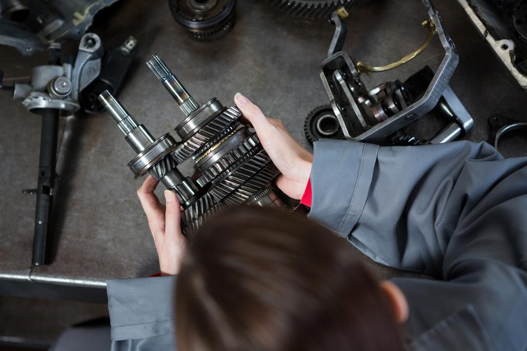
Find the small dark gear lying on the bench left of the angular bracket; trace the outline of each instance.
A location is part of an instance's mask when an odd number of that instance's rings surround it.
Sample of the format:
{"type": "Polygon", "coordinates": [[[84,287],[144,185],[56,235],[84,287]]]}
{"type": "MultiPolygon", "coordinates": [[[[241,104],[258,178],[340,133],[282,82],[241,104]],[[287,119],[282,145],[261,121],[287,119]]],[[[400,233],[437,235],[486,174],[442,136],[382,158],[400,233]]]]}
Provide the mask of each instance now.
{"type": "Polygon", "coordinates": [[[329,105],[318,106],[309,113],[304,122],[304,133],[311,144],[320,139],[344,138],[337,116],[329,105]]]}

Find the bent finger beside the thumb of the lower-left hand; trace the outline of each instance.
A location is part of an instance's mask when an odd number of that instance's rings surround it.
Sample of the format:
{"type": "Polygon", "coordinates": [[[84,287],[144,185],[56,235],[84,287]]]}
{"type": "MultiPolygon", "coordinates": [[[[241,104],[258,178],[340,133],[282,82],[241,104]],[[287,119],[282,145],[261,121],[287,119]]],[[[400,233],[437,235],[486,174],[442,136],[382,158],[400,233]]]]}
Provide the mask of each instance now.
{"type": "Polygon", "coordinates": [[[154,237],[154,242],[159,242],[159,237],[164,233],[164,210],[163,205],[154,194],[159,181],[151,175],[144,180],[141,187],[137,190],[137,196],[141,202],[144,213],[148,218],[148,225],[154,237]]]}

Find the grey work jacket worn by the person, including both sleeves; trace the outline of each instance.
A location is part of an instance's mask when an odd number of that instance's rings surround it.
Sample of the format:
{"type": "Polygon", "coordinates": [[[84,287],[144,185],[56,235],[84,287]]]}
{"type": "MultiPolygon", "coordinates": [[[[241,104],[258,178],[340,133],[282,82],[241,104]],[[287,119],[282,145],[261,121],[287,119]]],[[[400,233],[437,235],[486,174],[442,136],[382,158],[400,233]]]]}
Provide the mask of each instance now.
{"type": "MultiPolygon", "coordinates": [[[[378,263],[409,303],[410,350],[527,350],[527,157],[486,143],[315,143],[309,217],[378,263]]],[[[176,277],[110,280],[113,350],[172,350],[176,277]]]]}

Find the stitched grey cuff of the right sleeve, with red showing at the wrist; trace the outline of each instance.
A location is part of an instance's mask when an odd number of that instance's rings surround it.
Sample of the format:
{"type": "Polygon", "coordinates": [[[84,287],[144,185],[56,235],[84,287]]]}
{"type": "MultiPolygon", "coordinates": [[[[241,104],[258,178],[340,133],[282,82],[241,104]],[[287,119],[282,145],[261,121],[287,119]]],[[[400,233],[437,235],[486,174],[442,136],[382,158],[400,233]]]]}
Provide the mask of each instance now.
{"type": "Polygon", "coordinates": [[[366,204],[378,149],[350,141],[315,142],[309,218],[348,236],[366,204]]]}

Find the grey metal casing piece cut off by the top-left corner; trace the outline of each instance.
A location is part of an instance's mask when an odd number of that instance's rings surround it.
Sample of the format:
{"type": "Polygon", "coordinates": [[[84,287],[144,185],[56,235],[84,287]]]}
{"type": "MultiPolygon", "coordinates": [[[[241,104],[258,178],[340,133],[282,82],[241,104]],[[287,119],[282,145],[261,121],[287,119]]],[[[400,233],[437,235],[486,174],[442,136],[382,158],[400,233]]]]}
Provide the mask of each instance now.
{"type": "Polygon", "coordinates": [[[102,8],[117,0],[1,0],[0,44],[23,55],[63,39],[80,39],[102,8]]]}

